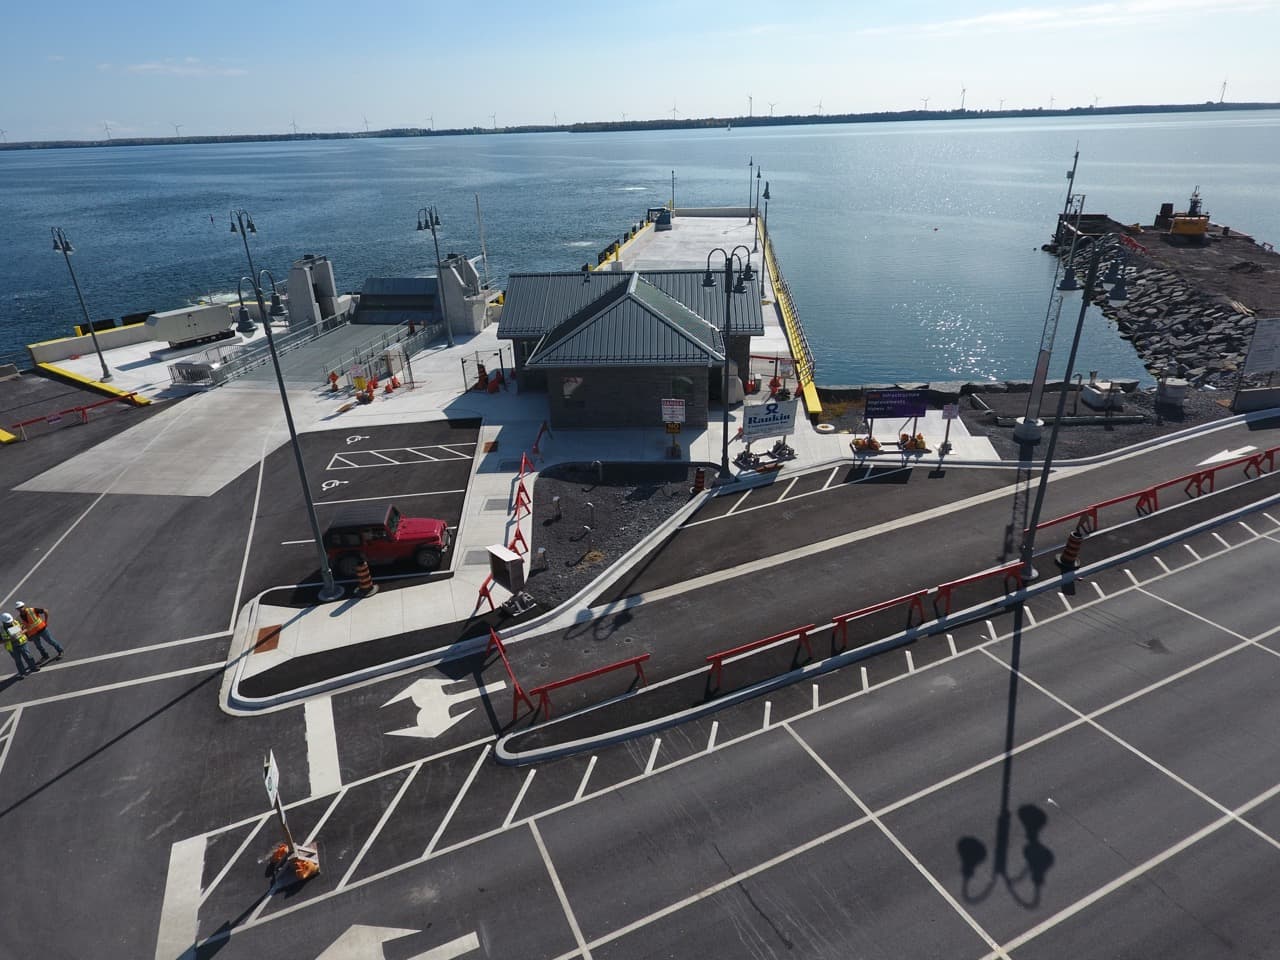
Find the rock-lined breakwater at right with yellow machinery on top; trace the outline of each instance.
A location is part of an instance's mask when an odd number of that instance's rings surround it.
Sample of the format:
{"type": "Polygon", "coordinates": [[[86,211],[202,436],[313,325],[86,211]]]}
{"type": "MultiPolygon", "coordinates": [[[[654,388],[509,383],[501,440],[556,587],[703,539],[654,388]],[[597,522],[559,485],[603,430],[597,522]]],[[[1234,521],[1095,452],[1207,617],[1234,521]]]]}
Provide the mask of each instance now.
{"type": "MultiPolygon", "coordinates": [[[[1257,385],[1243,374],[1258,317],[1280,315],[1280,255],[1234,227],[1212,223],[1198,192],[1188,210],[1164,204],[1149,224],[1065,212],[1044,250],[1084,276],[1094,243],[1114,243],[1128,288],[1124,305],[1094,302],[1130,340],[1147,370],[1193,387],[1257,385]]],[[[1262,375],[1266,381],[1267,375],[1262,375]]]]}

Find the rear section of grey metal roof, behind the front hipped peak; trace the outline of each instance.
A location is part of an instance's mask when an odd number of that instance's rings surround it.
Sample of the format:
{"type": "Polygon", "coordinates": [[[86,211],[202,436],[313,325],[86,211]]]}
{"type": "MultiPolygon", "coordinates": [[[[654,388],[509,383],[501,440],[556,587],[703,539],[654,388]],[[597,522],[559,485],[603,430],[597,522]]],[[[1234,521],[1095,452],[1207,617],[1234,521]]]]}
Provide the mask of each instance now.
{"type": "MultiPolygon", "coordinates": [[[[703,285],[704,271],[698,269],[641,271],[640,275],[707,323],[717,329],[723,328],[723,273],[712,271],[716,285],[710,288],[703,285]]],[[[541,337],[604,293],[628,283],[628,273],[609,270],[511,274],[507,279],[506,306],[498,320],[498,337],[541,337]]],[[[763,335],[759,287],[746,284],[746,291],[732,294],[730,301],[730,335],[763,335]]]]}

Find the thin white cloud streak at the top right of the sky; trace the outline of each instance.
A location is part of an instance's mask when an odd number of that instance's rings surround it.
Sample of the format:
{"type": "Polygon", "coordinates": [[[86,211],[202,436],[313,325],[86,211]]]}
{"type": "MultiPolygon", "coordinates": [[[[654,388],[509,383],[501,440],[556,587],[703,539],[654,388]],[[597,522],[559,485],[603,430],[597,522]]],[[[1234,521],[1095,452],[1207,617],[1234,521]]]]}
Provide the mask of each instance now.
{"type": "Polygon", "coordinates": [[[1016,6],[979,17],[870,27],[859,31],[859,33],[861,36],[883,36],[887,33],[1005,33],[1156,23],[1179,17],[1276,9],[1280,9],[1280,0],[1116,0],[1115,3],[1078,4],[1056,8],[1016,6]]]}

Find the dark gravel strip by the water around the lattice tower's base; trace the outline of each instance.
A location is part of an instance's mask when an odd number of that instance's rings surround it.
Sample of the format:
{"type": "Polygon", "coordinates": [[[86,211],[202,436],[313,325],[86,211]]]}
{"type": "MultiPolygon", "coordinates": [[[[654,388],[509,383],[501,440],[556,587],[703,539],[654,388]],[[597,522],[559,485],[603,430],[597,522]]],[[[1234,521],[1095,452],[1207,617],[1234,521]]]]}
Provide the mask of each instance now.
{"type": "MultiPolygon", "coordinates": [[[[1066,415],[1071,416],[1074,410],[1074,390],[1066,398],[1066,415]]],[[[1041,402],[1041,415],[1052,416],[1057,411],[1059,392],[1046,389],[1041,402]]],[[[1057,447],[1053,451],[1055,460],[1073,460],[1088,457],[1096,453],[1106,453],[1128,447],[1140,440],[1171,434],[1178,430],[1207,424],[1213,420],[1231,416],[1222,402],[1229,402],[1231,394],[1222,390],[1188,390],[1181,411],[1156,410],[1156,392],[1135,390],[1124,394],[1124,410],[1117,411],[1123,416],[1142,415],[1140,424],[1064,424],[1057,436],[1057,447]]],[[[1083,403],[1079,407],[1080,415],[1089,411],[1083,403]]],[[[965,428],[974,436],[986,436],[991,440],[996,452],[1006,460],[1018,460],[1019,445],[1014,439],[1012,426],[1000,426],[996,417],[1020,417],[1027,413],[1025,393],[982,393],[973,397],[964,397],[960,402],[960,417],[965,428]],[[975,399],[977,398],[977,399],[975,399]],[[986,403],[993,413],[988,413],[977,406],[977,401],[986,403]]],[[[1046,425],[1042,442],[1034,448],[1036,456],[1043,456],[1043,448],[1048,442],[1048,425],[1046,425]]]]}

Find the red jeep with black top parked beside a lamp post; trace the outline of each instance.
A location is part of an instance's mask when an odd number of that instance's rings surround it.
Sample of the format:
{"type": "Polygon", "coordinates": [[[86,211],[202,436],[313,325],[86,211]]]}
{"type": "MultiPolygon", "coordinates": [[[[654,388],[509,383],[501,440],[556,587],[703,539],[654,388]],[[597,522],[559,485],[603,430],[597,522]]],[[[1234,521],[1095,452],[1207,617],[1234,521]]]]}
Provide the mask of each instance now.
{"type": "Polygon", "coordinates": [[[394,504],[347,507],[324,534],[329,563],[344,577],[356,576],[361,559],[371,567],[412,561],[422,570],[436,570],[451,541],[443,520],[406,517],[394,504]]]}

